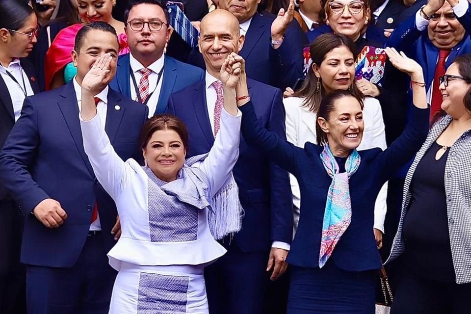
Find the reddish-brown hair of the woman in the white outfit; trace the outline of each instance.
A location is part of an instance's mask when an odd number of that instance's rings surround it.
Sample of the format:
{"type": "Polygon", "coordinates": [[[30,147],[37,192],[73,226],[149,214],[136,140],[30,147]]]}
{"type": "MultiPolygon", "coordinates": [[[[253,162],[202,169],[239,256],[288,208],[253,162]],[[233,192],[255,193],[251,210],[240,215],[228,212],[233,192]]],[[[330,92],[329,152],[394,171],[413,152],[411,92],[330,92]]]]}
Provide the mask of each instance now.
{"type": "Polygon", "coordinates": [[[182,120],[171,114],[157,114],[147,120],[139,135],[141,149],[145,149],[152,135],[160,130],[173,130],[182,139],[183,147],[188,151],[188,130],[182,120]]]}

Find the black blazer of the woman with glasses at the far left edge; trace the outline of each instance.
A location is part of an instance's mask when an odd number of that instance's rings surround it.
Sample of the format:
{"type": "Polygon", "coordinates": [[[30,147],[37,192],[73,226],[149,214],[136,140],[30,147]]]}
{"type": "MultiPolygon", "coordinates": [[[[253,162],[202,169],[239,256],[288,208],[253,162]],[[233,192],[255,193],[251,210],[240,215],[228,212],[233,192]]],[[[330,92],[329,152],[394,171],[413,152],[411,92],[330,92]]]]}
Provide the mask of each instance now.
{"type": "MultiPolygon", "coordinates": [[[[29,79],[29,84],[34,94],[39,93],[39,86],[35,75],[35,70],[31,62],[27,59],[20,59],[20,65],[29,79]]],[[[6,141],[8,134],[15,125],[15,112],[13,110],[13,103],[11,101],[10,92],[5,84],[5,81],[0,76],[0,149],[6,141]]],[[[7,190],[3,184],[0,183],[0,201],[7,195],[7,190]]]]}

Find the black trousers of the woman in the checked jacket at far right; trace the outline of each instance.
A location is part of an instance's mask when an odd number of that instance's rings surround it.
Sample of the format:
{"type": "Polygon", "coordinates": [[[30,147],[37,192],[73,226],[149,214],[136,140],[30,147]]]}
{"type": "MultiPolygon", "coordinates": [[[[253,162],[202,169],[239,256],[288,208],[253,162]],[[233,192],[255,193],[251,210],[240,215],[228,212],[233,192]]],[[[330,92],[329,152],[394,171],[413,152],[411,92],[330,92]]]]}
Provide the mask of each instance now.
{"type": "Polygon", "coordinates": [[[471,283],[442,283],[406,270],[397,283],[391,314],[471,314],[470,298],[471,283]]]}

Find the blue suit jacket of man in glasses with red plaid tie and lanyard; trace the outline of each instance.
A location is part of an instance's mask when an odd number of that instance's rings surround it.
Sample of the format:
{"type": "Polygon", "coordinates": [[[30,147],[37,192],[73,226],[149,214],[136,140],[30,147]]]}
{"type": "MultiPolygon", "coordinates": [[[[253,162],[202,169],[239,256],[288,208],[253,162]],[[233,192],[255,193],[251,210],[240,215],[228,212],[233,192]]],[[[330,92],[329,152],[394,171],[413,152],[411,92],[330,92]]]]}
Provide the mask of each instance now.
{"type": "MultiPolygon", "coordinates": [[[[167,109],[168,96],[184,87],[203,79],[205,72],[200,68],[175,60],[165,55],[164,71],[162,76],[162,87],[158,95],[157,107],[154,115],[164,113],[167,109]]],[[[130,78],[129,53],[118,58],[116,76],[109,83],[109,87],[131,98],[131,78],[130,78]]],[[[139,84],[139,82],[136,82],[139,84]]]]}

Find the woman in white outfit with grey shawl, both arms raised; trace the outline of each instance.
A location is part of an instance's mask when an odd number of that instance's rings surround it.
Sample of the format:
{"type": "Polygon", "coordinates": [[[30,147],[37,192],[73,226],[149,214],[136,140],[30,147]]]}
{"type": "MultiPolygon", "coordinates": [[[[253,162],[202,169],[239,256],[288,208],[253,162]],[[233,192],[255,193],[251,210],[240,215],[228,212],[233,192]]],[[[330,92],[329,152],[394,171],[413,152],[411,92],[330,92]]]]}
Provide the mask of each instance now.
{"type": "Polygon", "coordinates": [[[119,272],[109,313],[207,314],[203,268],[226,252],[214,237],[240,229],[232,177],[240,140],[234,89],[239,64],[230,55],[222,67],[224,108],[209,154],[185,160],[184,124],[157,115],[141,132],[141,167],[118,157],[97,118],[94,90],[110,60],[104,54],[83,78],[80,113],[85,152],[121,220],[121,237],[108,253],[119,272]]]}

